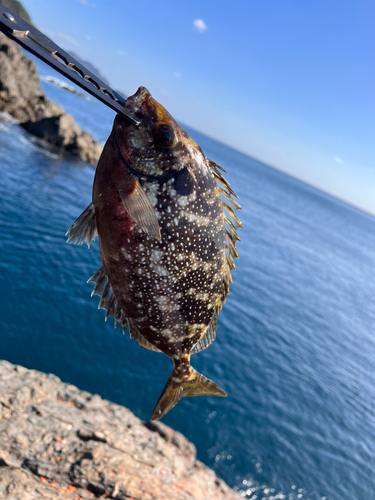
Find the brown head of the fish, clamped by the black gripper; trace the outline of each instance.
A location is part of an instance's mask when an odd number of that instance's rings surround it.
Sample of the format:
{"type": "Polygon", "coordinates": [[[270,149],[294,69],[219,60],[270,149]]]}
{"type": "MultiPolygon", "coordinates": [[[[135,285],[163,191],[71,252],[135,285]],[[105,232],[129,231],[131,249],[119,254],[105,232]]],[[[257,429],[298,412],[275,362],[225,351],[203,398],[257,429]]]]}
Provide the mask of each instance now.
{"type": "Polygon", "coordinates": [[[163,177],[202,161],[201,148],[145,87],[139,87],[124,106],[141,123],[135,127],[117,115],[113,134],[121,156],[137,173],[163,177]]]}

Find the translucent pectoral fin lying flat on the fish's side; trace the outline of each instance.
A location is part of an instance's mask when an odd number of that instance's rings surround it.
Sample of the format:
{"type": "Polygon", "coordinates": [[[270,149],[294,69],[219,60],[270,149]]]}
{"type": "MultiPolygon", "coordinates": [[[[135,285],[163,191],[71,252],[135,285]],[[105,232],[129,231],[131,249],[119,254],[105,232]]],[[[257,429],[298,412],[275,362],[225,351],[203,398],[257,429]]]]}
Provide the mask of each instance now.
{"type": "Polygon", "coordinates": [[[130,217],[148,236],[161,240],[155,210],[138,179],[134,177],[129,189],[119,189],[120,198],[130,217]]]}

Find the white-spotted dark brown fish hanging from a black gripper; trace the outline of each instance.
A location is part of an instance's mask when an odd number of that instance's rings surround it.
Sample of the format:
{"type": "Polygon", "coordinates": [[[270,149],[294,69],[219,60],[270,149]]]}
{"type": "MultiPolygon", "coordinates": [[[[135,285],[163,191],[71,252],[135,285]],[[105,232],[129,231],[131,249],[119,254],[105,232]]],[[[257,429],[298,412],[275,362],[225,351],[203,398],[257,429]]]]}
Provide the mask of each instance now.
{"type": "Polygon", "coordinates": [[[184,396],[226,396],[190,358],[215,340],[238,257],[241,207],[226,172],[145,87],[124,106],[141,123],[115,117],[92,202],[67,241],[90,246],[99,237],[102,266],[88,280],[98,308],[140,346],[172,359],[151,417],[158,420],[184,396]]]}

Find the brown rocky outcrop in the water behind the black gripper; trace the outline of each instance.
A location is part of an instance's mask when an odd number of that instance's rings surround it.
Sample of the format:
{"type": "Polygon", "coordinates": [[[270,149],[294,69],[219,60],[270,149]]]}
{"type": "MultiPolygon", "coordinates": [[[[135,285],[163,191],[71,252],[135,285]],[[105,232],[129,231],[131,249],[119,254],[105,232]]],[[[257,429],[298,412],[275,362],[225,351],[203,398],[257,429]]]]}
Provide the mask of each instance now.
{"type": "Polygon", "coordinates": [[[0,111],[16,118],[28,132],[53,144],[60,153],[97,163],[101,146],[61,106],[47,99],[35,64],[3,33],[0,33],[0,111]]]}

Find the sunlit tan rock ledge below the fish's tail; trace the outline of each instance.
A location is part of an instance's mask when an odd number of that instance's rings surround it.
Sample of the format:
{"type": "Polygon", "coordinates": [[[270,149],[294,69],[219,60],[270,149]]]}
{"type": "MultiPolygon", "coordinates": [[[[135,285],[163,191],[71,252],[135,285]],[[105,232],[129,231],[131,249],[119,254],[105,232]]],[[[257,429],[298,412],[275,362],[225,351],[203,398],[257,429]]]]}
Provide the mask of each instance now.
{"type": "Polygon", "coordinates": [[[238,500],[182,434],[0,361],[2,500],[238,500]]]}

